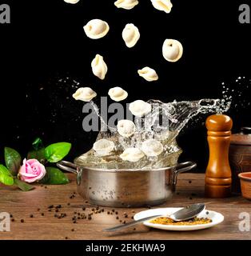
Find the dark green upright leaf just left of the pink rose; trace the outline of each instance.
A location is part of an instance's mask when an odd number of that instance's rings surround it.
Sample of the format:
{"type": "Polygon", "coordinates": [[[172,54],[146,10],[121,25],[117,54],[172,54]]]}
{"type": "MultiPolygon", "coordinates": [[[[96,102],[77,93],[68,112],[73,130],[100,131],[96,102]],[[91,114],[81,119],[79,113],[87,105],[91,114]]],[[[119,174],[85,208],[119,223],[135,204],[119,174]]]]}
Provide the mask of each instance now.
{"type": "Polygon", "coordinates": [[[11,149],[10,147],[5,147],[4,158],[6,161],[6,167],[10,170],[11,174],[17,174],[22,161],[18,151],[11,149]]]}

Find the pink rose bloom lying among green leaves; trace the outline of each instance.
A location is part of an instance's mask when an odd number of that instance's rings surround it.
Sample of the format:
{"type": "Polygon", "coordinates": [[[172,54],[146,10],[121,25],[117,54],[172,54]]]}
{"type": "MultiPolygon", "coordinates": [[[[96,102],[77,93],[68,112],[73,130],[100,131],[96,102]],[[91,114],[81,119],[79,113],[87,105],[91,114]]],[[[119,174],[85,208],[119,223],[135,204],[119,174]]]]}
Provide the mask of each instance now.
{"type": "Polygon", "coordinates": [[[22,181],[32,183],[41,180],[46,175],[46,168],[37,159],[26,158],[19,170],[19,177],[22,181]]]}

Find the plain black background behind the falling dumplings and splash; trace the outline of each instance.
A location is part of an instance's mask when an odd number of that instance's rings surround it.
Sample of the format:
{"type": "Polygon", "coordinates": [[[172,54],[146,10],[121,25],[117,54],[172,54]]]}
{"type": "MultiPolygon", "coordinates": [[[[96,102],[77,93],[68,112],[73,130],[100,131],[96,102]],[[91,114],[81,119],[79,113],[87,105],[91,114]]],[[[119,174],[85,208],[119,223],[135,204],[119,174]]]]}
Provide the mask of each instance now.
{"type": "MultiPolygon", "coordinates": [[[[133,10],[118,10],[114,0],[81,0],[76,5],[63,0],[1,3],[11,8],[11,23],[0,24],[1,152],[10,146],[25,154],[38,136],[46,144],[72,142],[70,160],[90,149],[97,133],[82,130],[82,102],[71,98],[73,79],[99,96],[122,86],[129,92],[127,102],[138,98],[168,102],[219,98],[221,82],[233,84],[239,76],[250,76],[251,25],[238,22],[242,1],[177,0],[170,14],[155,10],[149,0],[141,0],[133,10]],[[110,24],[105,38],[86,37],[82,26],[93,18],[110,24]],[[132,49],[125,47],[121,36],[129,22],[141,32],[132,49]],[[182,42],[179,62],[162,57],[165,38],[182,42]],[[107,63],[104,81],[91,72],[95,54],[102,54],[107,63]],[[159,80],[139,78],[137,69],[143,66],[157,70],[159,80]]],[[[233,132],[251,125],[250,107],[233,107],[229,115],[233,132]]],[[[178,138],[184,150],[181,160],[194,160],[200,171],[208,158],[205,118],[190,123],[178,138]]]]}

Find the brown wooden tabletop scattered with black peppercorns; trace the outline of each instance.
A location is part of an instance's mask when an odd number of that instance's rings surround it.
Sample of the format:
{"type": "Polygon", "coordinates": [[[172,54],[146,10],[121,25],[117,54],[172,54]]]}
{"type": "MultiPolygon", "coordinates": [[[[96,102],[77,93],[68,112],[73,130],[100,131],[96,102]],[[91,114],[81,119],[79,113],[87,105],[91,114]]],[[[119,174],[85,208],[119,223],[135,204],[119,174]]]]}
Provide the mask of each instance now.
{"type": "MultiPolygon", "coordinates": [[[[69,174],[70,184],[64,186],[36,186],[35,190],[22,192],[14,187],[0,186],[0,212],[13,215],[14,222],[10,222],[10,232],[0,232],[2,239],[251,239],[251,230],[241,232],[238,228],[239,214],[247,212],[251,218],[251,202],[233,196],[226,199],[204,198],[204,174],[181,174],[177,183],[177,193],[165,206],[185,206],[194,202],[205,202],[209,210],[217,210],[225,215],[225,221],[208,230],[189,232],[171,232],[149,229],[143,225],[130,228],[123,232],[110,234],[103,232],[105,227],[114,226],[122,222],[129,222],[134,212],[145,208],[115,209],[91,206],[83,200],[76,191],[75,177],[69,174]],[[70,198],[74,194],[74,197],[70,198]],[[70,202],[70,205],[69,205],[70,202]],[[61,205],[55,213],[50,205],[61,205]],[[86,207],[86,210],[82,208],[86,207]],[[38,208],[40,210],[38,210],[38,208]],[[104,211],[102,211],[104,210],[104,211]],[[88,219],[88,214],[92,214],[88,219]],[[108,211],[110,214],[108,214],[108,211]],[[118,214],[116,214],[118,211],[118,214]],[[75,212],[75,214],[74,214],[75,212]],[[64,218],[55,218],[54,214],[66,214],[64,218]],[[79,214],[80,215],[79,215],[79,214]],[[124,214],[128,214],[125,218],[124,214]],[[30,218],[33,214],[33,218],[30,218]],[[86,214],[86,219],[84,215],[86,214]],[[77,216],[77,223],[72,218],[77,216]],[[78,219],[80,217],[81,219],[78,219]],[[83,217],[83,219],[82,219],[83,217]],[[119,219],[117,219],[119,218],[119,219]],[[24,222],[21,222],[23,220],[24,222]]],[[[85,208],[84,208],[85,209],[85,208]]],[[[250,222],[251,223],[251,222],[250,222]]]]}

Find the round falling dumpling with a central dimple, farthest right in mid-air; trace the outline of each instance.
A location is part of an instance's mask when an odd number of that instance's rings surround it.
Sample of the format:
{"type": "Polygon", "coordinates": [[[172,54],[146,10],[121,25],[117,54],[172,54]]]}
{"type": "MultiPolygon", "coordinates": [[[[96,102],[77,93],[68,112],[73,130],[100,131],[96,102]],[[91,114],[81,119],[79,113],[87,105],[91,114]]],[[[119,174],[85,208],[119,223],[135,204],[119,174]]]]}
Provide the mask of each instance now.
{"type": "Polygon", "coordinates": [[[177,62],[183,54],[181,42],[174,39],[165,39],[162,46],[163,57],[169,62],[177,62]]]}

